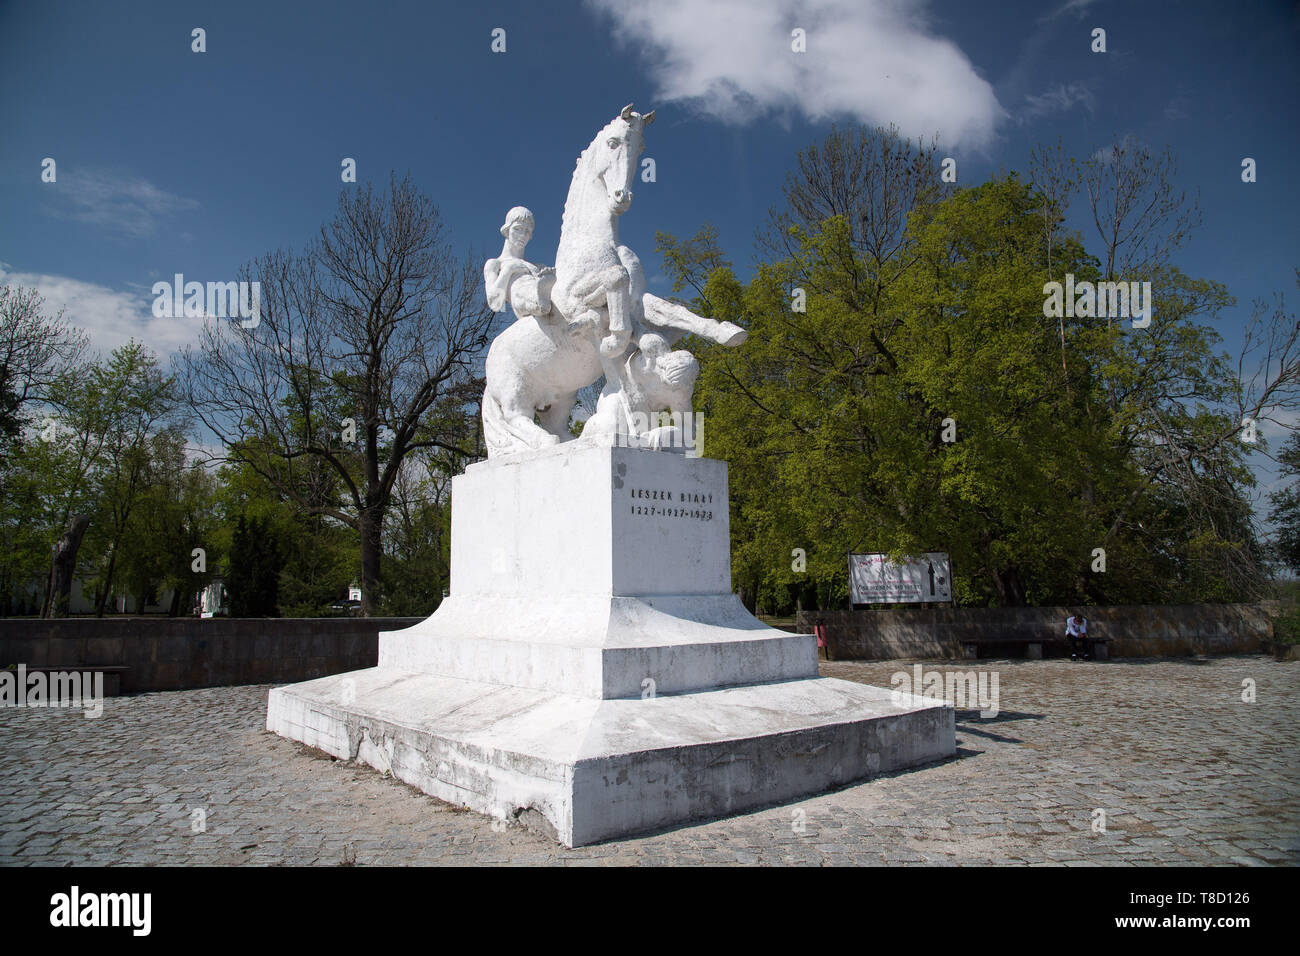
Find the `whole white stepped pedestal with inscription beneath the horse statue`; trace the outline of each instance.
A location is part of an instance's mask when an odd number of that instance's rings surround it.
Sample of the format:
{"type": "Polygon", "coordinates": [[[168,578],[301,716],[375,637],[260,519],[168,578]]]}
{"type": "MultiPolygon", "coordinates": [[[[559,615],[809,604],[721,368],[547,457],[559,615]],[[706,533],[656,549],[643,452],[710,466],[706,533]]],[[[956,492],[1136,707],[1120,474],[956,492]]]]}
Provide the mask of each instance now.
{"type": "Polygon", "coordinates": [[[819,678],[741,606],[723,462],[576,444],[454,479],[451,596],[266,728],[571,847],[956,750],[952,706],[819,678]]]}

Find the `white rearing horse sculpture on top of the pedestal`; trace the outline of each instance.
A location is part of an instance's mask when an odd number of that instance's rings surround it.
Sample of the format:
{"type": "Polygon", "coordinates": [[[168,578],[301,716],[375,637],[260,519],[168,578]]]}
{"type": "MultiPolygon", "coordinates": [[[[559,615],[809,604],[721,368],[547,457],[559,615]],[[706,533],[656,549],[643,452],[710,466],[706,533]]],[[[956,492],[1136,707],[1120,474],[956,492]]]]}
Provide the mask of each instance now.
{"type": "MultiPolygon", "coordinates": [[[[647,293],[641,260],[619,243],[619,216],[632,204],[637,157],[651,122],[654,111],[641,116],[629,103],[578,156],[555,254],[551,312],[521,315],[488,350],[482,415],[490,457],[568,440],[577,390],[602,373],[607,395],[644,392],[624,380],[629,350],[647,333],[659,337],[655,351],[686,333],[727,346],[745,341],[738,325],[647,293]]],[[[520,246],[507,248],[521,258],[520,246]]]]}

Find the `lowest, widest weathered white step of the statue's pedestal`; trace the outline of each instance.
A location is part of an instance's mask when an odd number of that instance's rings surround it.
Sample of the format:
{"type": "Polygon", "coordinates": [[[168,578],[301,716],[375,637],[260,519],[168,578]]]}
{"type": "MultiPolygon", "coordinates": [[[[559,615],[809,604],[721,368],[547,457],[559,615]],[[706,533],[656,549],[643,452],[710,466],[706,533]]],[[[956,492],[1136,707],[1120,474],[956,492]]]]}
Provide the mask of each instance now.
{"type": "Polygon", "coordinates": [[[953,719],[829,678],[599,700],[372,667],[274,688],[266,730],[578,847],[942,760],[953,719]]]}

